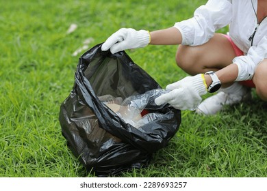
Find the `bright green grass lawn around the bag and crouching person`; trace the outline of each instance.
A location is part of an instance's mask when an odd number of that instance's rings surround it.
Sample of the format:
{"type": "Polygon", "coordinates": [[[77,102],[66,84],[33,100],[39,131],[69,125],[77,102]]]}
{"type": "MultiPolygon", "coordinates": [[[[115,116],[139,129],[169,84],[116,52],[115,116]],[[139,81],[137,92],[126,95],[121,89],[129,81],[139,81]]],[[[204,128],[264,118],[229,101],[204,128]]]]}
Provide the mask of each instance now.
{"type": "MultiPolygon", "coordinates": [[[[0,1],[0,177],[92,177],[66,147],[58,121],[81,55],[73,52],[84,40],[92,38],[92,47],[121,27],[173,26],[205,3],[0,1]],[[78,28],[66,34],[71,23],[78,28]]],[[[176,50],[148,46],[128,53],[165,87],[186,76],[175,64],[176,50]]],[[[256,95],[212,117],[183,111],[182,120],[147,168],[118,176],[267,177],[266,103],[256,95]]]]}

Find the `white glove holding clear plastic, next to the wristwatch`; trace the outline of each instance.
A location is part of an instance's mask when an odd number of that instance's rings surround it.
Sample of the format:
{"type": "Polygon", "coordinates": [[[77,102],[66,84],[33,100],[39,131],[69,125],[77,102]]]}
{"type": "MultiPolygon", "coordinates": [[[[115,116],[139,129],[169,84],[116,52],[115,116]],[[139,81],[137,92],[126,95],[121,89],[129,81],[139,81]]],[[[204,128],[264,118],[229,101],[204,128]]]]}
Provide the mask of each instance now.
{"type": "Polygon", "coordinates": [[[156,98],[155,104],[168,103],[180,110],[194,110],[202,100],[201,95],[207,93],[207,85],[204,74],[197,74],[167,85],[166,90],[170,92],[156,98]]]}

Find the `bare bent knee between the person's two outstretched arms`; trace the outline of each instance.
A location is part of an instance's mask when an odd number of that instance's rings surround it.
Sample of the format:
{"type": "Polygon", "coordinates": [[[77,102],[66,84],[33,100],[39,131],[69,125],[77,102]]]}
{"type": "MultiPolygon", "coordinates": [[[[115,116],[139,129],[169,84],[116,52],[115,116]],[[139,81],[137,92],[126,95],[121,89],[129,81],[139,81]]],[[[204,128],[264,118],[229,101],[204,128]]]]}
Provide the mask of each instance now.
{"type": "Polygon", "coordinates": [[[200,46],[180,45],[176,54],[179,68],[195,75],[210,70],[217,71],[232,63],[236,53],[225,35],[215,33],[205,44],[200,46]]]}

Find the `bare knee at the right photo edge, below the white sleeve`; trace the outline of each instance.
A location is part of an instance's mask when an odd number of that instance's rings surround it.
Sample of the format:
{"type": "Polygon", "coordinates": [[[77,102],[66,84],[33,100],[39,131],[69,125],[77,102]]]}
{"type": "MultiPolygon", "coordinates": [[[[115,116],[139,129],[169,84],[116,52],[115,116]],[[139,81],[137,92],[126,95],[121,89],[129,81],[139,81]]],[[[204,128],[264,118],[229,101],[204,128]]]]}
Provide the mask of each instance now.
{"type": "Polygon", "coordinates": [[[253,76],[256,93],[264,101],[267,101],[267,59],[257,65],[253,76]]]}

